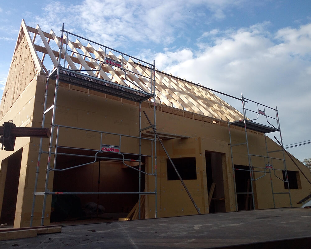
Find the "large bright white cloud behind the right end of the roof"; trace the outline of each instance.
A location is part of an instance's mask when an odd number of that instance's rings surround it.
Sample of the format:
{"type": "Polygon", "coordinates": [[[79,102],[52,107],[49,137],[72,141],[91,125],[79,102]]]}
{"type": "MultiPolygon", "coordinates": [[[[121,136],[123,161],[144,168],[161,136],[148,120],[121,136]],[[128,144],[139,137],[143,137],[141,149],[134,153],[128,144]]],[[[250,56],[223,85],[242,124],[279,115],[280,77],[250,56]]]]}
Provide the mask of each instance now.
{"type": "MultiPolygon", "coordinates": [[[[243,92],[246,98],[278,106],[287,143],[311,139],[311,129],[305,125],[311,122],[311,24],[284,28],[275,34],[269,33],[266,25],[210,31],[201,36],[197,51],[167,50],[156,57],[164,58],[163,65],[167,66],[161,69],[167,73],[236,97],[243,92]],[[203,43],[207,36],[213,44],[203,43]]],[[[219,96],[240,108],[236,101],[219,96]]],[[[307,154],[307,147],[299,149],[307,154]]]]}

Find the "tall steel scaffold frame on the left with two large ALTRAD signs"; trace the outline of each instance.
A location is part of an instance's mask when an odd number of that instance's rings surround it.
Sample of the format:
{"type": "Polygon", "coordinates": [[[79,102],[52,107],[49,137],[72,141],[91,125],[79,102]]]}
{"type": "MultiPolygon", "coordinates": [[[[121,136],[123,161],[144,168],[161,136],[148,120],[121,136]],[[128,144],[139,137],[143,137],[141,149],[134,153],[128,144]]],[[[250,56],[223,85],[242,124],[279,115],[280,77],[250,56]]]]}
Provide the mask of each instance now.
{"type": "MultiPolygon", "coordinates": [[[[111,49],[107,46],[104,46],[102,44],[96,43],[92,40],[88,40],[84,37],[81,37],[79,35],[76,35],[74,33],[71,33],[69,31],[65,31],[64,30],[64,24],[62,27],[62,34],[61,34],[61,40],[60,40],[60,46],[59,46],[59,55],[58,55],[58,65],[56,67],[56,69],[54,70],[54,72],[52,72],[51,74],[48,73],[48,77],[47,77],[47,83],[46,83],[46,91],[45,91],[45,98],[44,98],[44,112],[43,112],[43,119],[42,119],[42,127],[44,127],[44,120],[45,120],[45,115],[50,111],[53,110],[53,114],[52,114],[52,121],[51,121],[51,133],[50,133],[50,142],[49,142],[49,151],[45,152],[42,150],[42,138],[40,139],[40,145],[39,145],[39,155],[38,155],[38,164],[36,167],[36,172],[35,172],[35,188],[34,188],[34,195],[33,195],[33,203],[32,203],[32,210],[31,210],[31,216],[30,216],[30,227],[32,226],[33,223],[33,218],[34,218],[34,211],[35,211],[35,199],[36,199],[36,195],[44,195],[44,200],[43,200],[43,206],[42,206],[42,216],[41,216],[41,226],[44,225],[44,216],[45,216],[45,208],[46,208],[46,201],[47,201],[47,196],[48,195],[57,195],[57,194],[138,194],[138,203],[139,203],[139,211],[138,211],[138,218],[141,218],[141,195],[155,195],[155,218],[157,218],[157,169],[156,169],[156,165],[157,165],[157,155],[156,155],[156,134],[154,135],[154,139],[148,139],[148,138],[143,138],[142,137],[142,131],[146,130],[146,129],[150,129],[151,127],[146,127],[146,128],[142,128],[141,127],[141,103],[145,100],[147,100],[148,98],[153,98],[153,103],[154,103],[154,125],[153,125],[153,129],[156,130],[156,79],[155,79],[155,61],[153,61],[153,64],[145,62],[143,60],[137,59],[135,57],[132,57],[128,54],[124,54],[118,50],[115,49],[111,49]],[[64,38],[64,33],[66,33],[66,45],[65,45],[65,53],[64,53],[64,67],[61,66],[61,59],[62,59],[62,50],[63,50],[63,38],[64,38]],[[109,82],[107,80],[103,80],[100,78],[94,78],[91,77],[89,75],[85,75],[85,77],[83,75],[81,75],[81,71],[99,71],[100,69],[94,69],[94,70],[84,70],[84,69],[69,69],[69,65],[67,67],[67,69],[65,68],[66,65],[66,58],[67,58],[67,43],[68,43],[68,35],[73,35],[76,37],[79,37],[81,39],[87,40],[88,42],[92,42],[96,45],[99,45],[101,47],[104,47],[104,61],[101,61],[100,59],[95,59],[92,58],[93,60],[97,60],[100,61],[100,68],[101,65],[103,63],[107,63],[106,62],[106,49],[109,49],[110,51],[115,51],[117,53],[120,53],[122,58],[121,58],[121,67],[119,67],[119,69],[121,69],[124,72],[124,78],[126,79],[126,72],[129,71],[126,68],[123,68],[123,56],[127,56],[129,58],[135,59],[138,62],[141,63],[145,63],[149,66],[150,68],[150,87],[147,87],[147,89],[150,90],[150,93],[145,92],[145,90],[143,90],[141,87],[133,84],[136,86],[136,88],[138,88],[138,90],[130,88],[130,87],[126,87],[126,86],[122,86],[113,82],[109,82]],[[132,101],[136,101],[139,102],[139,137],[135,137],[135,136],[130,136],[130,135],[124,135],[124,134],[117,134],[117,133],[110,133],[110,132],[104,132],[104,131],[98,131],[98,130],[91,130],[91,129],[81,129],[81,128],[77,128],[77,127],[70,127],[70,126],[64,126],[64,125],[57,125],[55,124],[55,115],[56,115],[56,106],[57,106],[57,95],[58,95],[58,87],[59,87],[59,81],[60,81],[60,70],[62,69],[62,73],[64,72],[65,74],[62,74],[62,77],[66,80],[72,80],[72,83],[75,84],[77,81],[74,81],[75,79],[71,76],[67,76],[67,74],[70,74],[69,71],[72,71],[74,75],[76,75],[77,77],[80,78],[87,78],[86,82],[83,82],[83,80],[79,81],[78,84],[82,84],[80,85],[81,87],[86,87],[88,88],[90,86],[90,84],[94,81],[96,81],[96,83],[98,83],[97,81],[101,82],[104,86],[108,86],[106,88],[99,86],[99,91],[100,92],[104,92],[107,91],[107,94],[110,95],[114,95],[114,96],[120,96],[132,100],[132,101]],[[75,71],[79,71],[77,73],[75,73],[75,71]],[[69,73],[68,73],[69,72],[69,73]],[[153,77],[152,77],[152,73],[153,73],[153,77]],[[55,76],[56,74],[56,76],[55,76]],[[67,78],[66,78],[67,77],[67,78]],[[55,78],[56,82],[55,82],[55,92],[54,92],[54,101],[53,101],[53,105],[51,105],[48,109],[46,109],[46,105],[47,105],[47,95],[48,95],[48,85],[49,85],[49,79],[50,78],[55,78]],[[91,83],[90,83],[91,82],[91,83]],[[85,84],[84,84],[85,83],[85,84]],[[117,91],[114,91],[114,88],[117,89],[117,91]],[[108,90],[107,90],[108,89],[108,90]],[[112,92],[111,92],[112,91],[112,92]],[[123,92],[122,92],[123,91],[123,92]],[[137,99],[139,101],[137,101],[137,99]],[[55,152],[52,152],[53,149],[53,135],[54,135],[54,128],[57,128],[57,135],[56,135],[56,143],[55,143],[55,152]],[[111,134],[111,135],[117,135],[120,136],[120,142],[119,142],[119,148],[121,148],[121,137],[130,137],[130,138],[135,138],[135,139],[139,139],[139,154],[138,154],[138,160],[133,160],[133,159],[125,159],[124,158],[124,154],[129,155],[129,153],[118,153],[119,155],[122,156],[122,158],[108,158],[108,157],[98,157],[97,154],[98,153],[102,153],[102,151],[97,151],[95,153],[95,156],[83,156],[83,157],[93,157],[95,158],[95,160],[93,162],[90,163],[86,163],[86,164],[81,164],[81,165],[77,165],[74,167],[69,167],[66,169],[56,169],[56,158],[57,158],[57,154],[62,154],[62,155],[68,155],[68,156],[78,156],[77,154],[70,154],[70,153],[58,153],[58,148],[62,148],[61,146],[58,146],[58,138],[59,138],[59,131],[60,128],[66,128],[66,129],[78,129],[78,130],[84,130],[84,131],[92,131],[92,132],[99,132],[101,134],[101,141],[100,143],[102,144],[102,134],[111,134]],[[142,155],[142,140],[146,140],[146,141],[151,141],[151,155],[142,155]],[[46,178],[45,178],[45,187],[44,187],[44,192],[37,192],[37,185],[38,185],[38,179],[39,179],[39,165],[40,165],[40,161],[41,161],[41,155],[42,153],[47,153],[48,154],[48,162],[47,162],[47,171],[46,171],[46,178]],[[51,167],[51,157],[52,154],[54,155],[54,164],[53,164],[53,168],[51,167]],[[147,173],[145,171],[141,170],[141,166],[142,166],[142,156],[147,156],[147,157],[151,157],[151,173],[147,173]],[[96,162],[97,159],[103,159],[103,160],[107,160],[107,161],[120,161],[123,162],[124,165],[139,171],[139,189],[138,192],[52,192],[48,190],[48,183],[49,183],[49,172],[50,171],[63,171],[63,170],[68,170],[68,169],[72,169],[72,168],[77,168],[77,167],[82,167],[85,166],[87,164],[91,164],[96,162]],[[138,169],[131,167],[130,165],[127,165],[125,163],[125,161],[135,161],[139,163],[138,169]],[[153,166],[153,163],[155,163],[155,166],[153,166]],[[141,174],[145,174],[145,175],[149,175],[149,176],[154,176],[155,177],[155,191],[154,192],[142,192],[141,190],[141,174]]],[[[72,53],[76,53],[79,54],[77,51],[71,51],[68,50],[72,53]]],[[[79,54],[81,55],[81,54],[79,54]]],[[[83,55],[85,56],[85,55],[83,55]]],[[[109,63],[109,62],[108,62],[109,63]]],[[[134,73],[135,72],[131,72],[134,73]]],[[[98,86],[97,86],[98,87],[98,86]]],[[[89,88],[90,89],[90,88],[89,88]]],[[[66,148],[70,148],[70,147],[66,147],[66,148]]],[[[71,148],[73,149],[73,148],[71,148]]],[[[77,149],[77,148],[74,148],[77,149]]],[[[86,149],[87,150],[87,149],[86,149]]],[[[95,151],[95,150],[93,150],[95,151]]],[[[137,154],[135,154],[137,156],[137,154]]]]}

